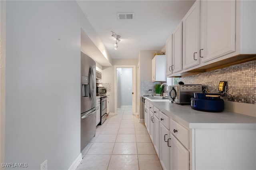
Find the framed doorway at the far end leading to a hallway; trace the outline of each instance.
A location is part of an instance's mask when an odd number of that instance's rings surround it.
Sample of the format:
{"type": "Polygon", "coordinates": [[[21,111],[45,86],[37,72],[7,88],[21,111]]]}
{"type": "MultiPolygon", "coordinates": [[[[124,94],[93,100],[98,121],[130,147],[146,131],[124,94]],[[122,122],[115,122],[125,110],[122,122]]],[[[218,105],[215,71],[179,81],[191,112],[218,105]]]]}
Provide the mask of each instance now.
{"type": "Polygon", "coordinates": [[[117,115],[136,115],[135,71],[135,65],[114,66],[115,113],[117,115]]]}

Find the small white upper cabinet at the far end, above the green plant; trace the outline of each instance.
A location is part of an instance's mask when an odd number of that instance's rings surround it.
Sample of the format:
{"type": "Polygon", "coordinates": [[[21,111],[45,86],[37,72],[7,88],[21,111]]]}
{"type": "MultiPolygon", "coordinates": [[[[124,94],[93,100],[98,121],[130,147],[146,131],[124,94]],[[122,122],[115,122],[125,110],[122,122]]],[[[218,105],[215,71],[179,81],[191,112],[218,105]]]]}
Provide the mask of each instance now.
{"type": "Polygon", "coordinates": [[[165,55],[155,55],[152,59],[152,81],[166,81],[165,55]]]}

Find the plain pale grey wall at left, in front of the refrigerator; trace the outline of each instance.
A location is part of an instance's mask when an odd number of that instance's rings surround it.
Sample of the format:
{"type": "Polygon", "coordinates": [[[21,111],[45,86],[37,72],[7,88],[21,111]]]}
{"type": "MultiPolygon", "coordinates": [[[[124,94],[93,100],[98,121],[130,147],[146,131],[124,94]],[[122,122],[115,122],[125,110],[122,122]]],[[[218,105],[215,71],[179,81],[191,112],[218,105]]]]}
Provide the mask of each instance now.
{"type": "Polygon", "coordinates": [[[80,154],[81,28],[96,35],[76,1],[6,2],[5,162],[60,170],[80,154]]]}

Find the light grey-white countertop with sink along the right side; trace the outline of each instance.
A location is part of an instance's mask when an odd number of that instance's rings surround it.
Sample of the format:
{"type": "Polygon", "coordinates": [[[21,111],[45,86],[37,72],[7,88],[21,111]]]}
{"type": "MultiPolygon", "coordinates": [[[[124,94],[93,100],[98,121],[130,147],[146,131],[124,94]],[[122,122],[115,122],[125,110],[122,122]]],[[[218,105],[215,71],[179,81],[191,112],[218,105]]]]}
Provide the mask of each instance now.
{"type": "Polygon", "coordinates": [[[187,128],[256,129],[256,117],[225,110],[218,113],[197,111],[190,105],[180,105],[169,100],[144,98],[165,115],[187,128]]]}

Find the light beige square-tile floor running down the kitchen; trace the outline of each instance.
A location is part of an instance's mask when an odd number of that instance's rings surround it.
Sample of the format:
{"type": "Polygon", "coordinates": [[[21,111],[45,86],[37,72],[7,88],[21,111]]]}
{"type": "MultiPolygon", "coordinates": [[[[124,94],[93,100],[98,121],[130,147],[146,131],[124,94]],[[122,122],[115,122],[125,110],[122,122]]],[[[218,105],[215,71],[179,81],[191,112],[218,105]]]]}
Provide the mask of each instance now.
{"type": "Polygon", "coordinates": [[[96,128],[82,157],[76,170],[162,170],[146,127],[131,107],[118,109],[96,128]]]}

